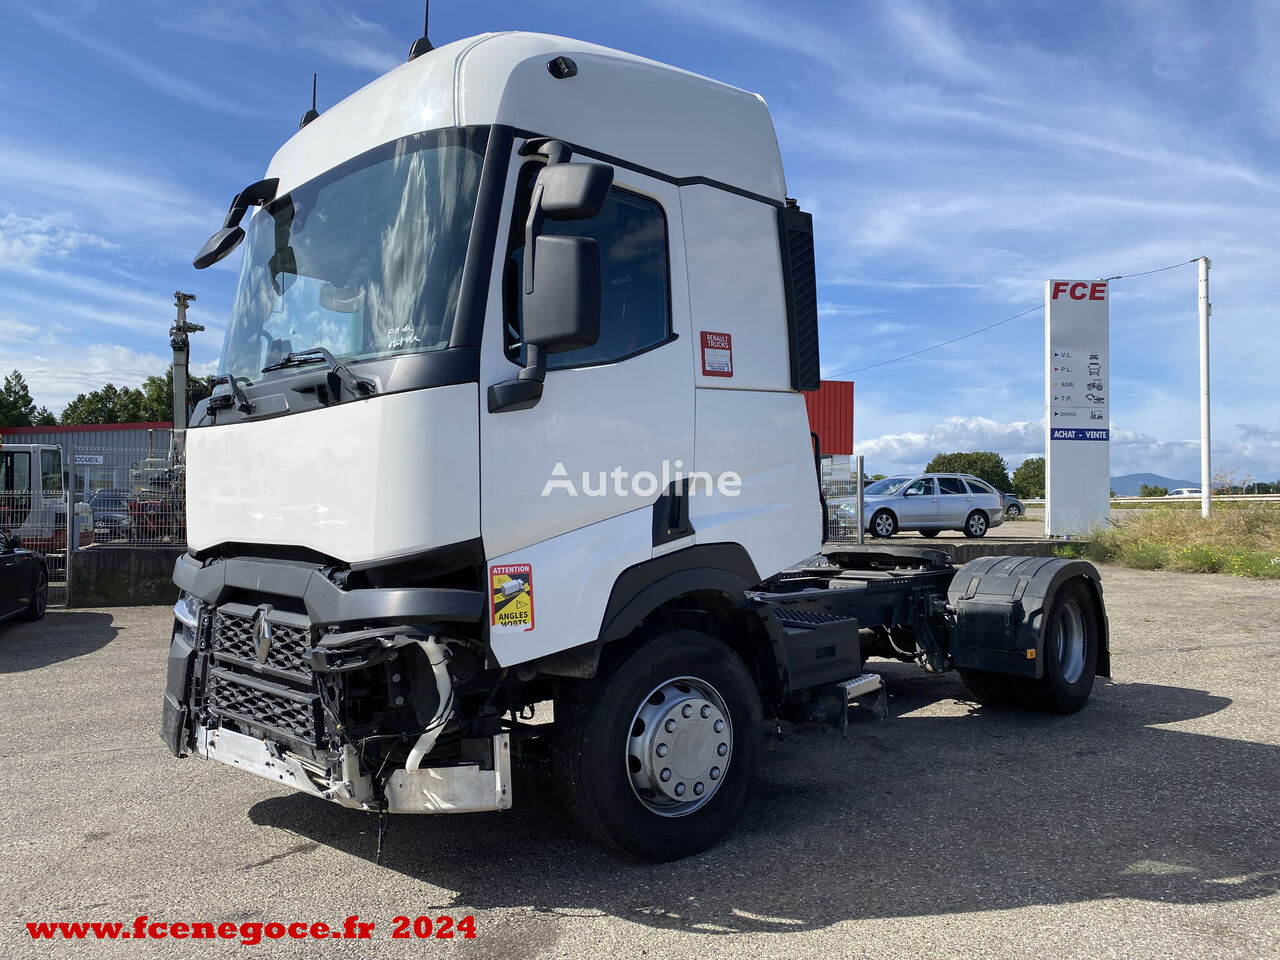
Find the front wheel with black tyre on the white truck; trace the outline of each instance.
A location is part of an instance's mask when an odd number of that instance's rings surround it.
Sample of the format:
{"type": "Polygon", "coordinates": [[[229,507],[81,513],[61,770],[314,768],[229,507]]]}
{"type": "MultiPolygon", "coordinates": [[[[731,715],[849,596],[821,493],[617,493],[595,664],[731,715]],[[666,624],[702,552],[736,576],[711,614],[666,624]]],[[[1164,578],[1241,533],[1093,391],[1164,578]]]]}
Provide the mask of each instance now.
{"type": "Polygon", "coordinates": [[[695,630],[654,630],[608,676],[562,686],[556,783],[596,840],[677,860],[713,846],[742,815],[760,724],[760,695],[737,654],[695,630]]]}

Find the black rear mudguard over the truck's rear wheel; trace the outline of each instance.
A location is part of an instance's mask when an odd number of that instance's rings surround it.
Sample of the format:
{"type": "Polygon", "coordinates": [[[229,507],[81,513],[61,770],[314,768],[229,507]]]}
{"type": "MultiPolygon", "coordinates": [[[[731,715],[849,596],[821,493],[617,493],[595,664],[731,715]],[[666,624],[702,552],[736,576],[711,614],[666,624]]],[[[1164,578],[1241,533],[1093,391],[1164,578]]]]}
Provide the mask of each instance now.
{"type": "Polygon", "coordinates": [[[1098,613],[1097,675],[1111,676],[1111,641],[1102,579],[1087,561],[1052,557],[980,557],[956,571],[947,590],[954,611],[956,667],[1039,680],[1044,673],[1044,620],[1057,591],[1083,577],[1098,613]]]}

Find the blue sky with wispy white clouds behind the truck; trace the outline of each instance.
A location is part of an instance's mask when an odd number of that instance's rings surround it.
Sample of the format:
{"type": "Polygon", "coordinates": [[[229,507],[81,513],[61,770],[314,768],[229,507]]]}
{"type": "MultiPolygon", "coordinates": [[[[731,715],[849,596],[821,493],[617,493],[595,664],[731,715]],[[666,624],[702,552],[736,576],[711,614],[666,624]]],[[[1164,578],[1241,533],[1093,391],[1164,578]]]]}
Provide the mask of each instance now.
{"type": "MultiPolygon", "coordinates": [[[[536,29],[760,92],[815,216],[827,375],[868,468],[1043,447],[1046,276],[1213,260],[1213,460],[1280,477],[1280,5],[434,4],[431,37],[536,29]],[[859,372],[847,372],[855,371],[859,372]]],[[[0,1],[0,367],[60,410],[201,370],[238,257],[191,257],[308,106],[403,61],[417,3],[0,1]]],[[[1112,472],[1199,471],[1196,268],[1112,285],[1112,472]]]]}

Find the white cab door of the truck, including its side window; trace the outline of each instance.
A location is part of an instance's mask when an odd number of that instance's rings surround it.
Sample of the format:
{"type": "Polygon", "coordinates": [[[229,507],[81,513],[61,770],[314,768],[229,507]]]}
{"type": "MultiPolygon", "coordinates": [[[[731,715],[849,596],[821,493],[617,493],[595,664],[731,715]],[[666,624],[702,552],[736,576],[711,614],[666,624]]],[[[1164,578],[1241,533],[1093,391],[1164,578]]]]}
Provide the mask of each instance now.
{"type": "Polygon", "coordinates": [[[515,636],[509,623],[497,622],[490,598],[492,643],[503,663],[595,639],[617,575],[678,547],[657,543],[654,508],[694,461],[680,196],[672,184],[625,166],[614,168],[598,216],[544,225],[544,234],[599,244],[598,342],[547,357],[535,406],[489,412],[489,387],[513,378],[526,355],[518,278],[529,196],[541,163],[520,156],[520,146],[499,224],[479,396],[490,589],[508,582],[497,582],[502,577],[532,582],[531,623],[518,625],[515,636]],[[494,572],[499,567],[503,572],[494,572]]]}

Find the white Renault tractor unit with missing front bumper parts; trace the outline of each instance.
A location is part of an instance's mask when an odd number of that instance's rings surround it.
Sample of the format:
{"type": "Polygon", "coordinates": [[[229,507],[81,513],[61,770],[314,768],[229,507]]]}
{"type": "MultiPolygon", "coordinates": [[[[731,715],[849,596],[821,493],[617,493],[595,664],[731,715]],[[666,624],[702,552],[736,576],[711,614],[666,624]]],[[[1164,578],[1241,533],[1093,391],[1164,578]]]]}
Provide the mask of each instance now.
{"type": "Polygon", "coordinates": [[[869,654],[1057,712],[1108,675],[1088,563],[822,556],[812,221],[760,97],[458,41],[308,114],[196,266],[242,241],[175,755],[394,814],[508,808],[518,750],[668,860],[739,819],[765,718],[844,724],[869,654]]]}

